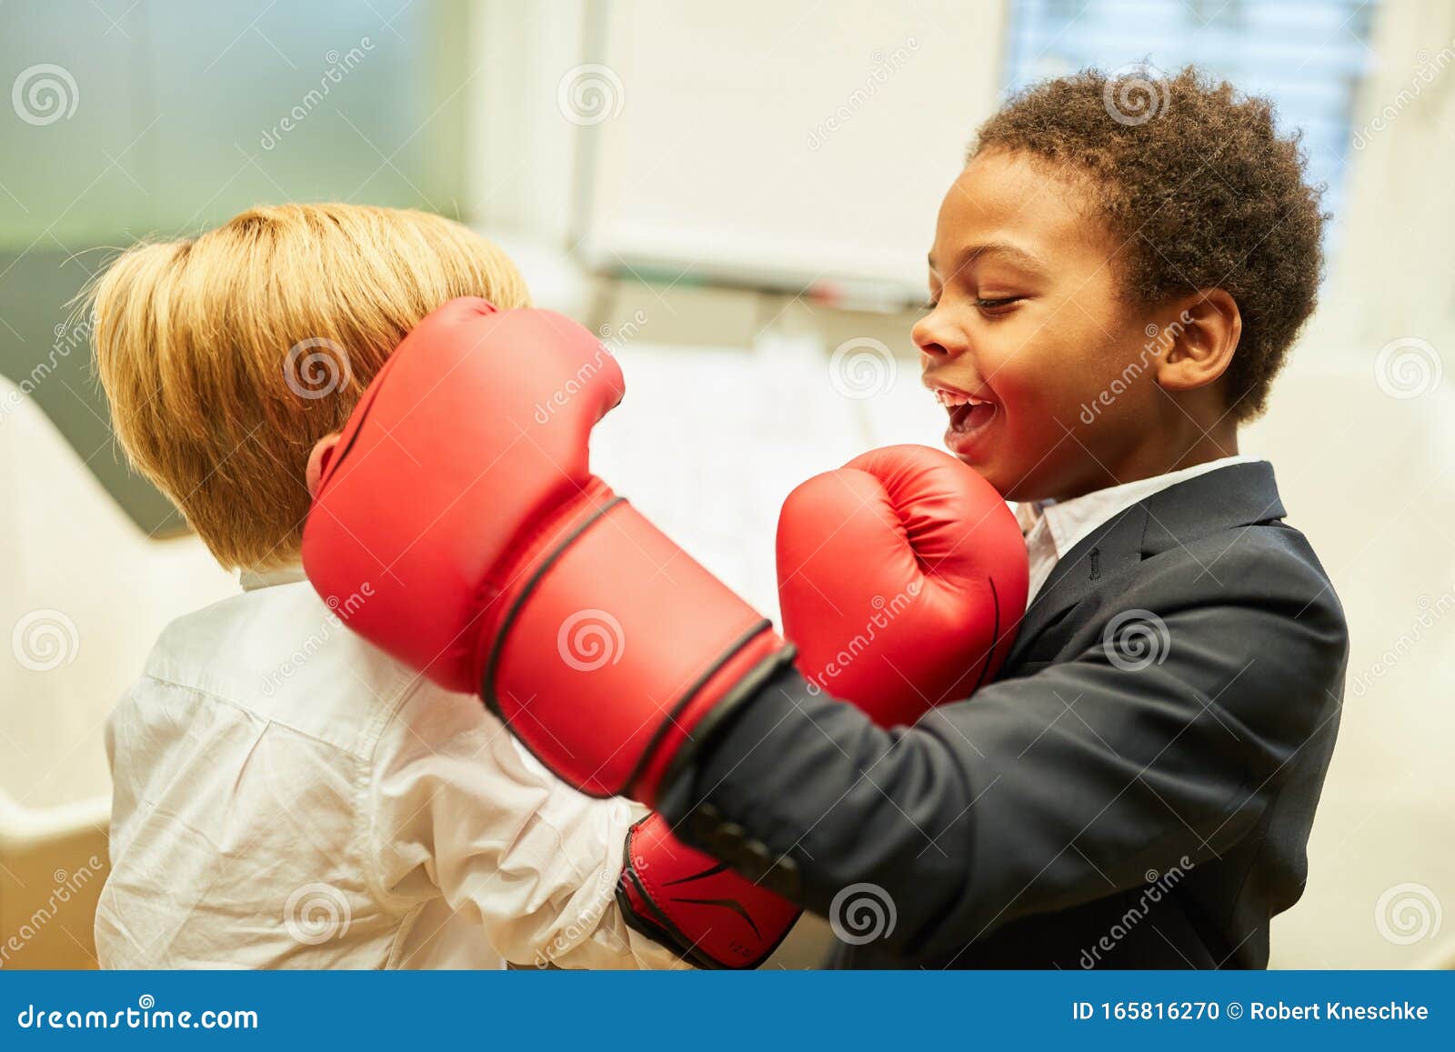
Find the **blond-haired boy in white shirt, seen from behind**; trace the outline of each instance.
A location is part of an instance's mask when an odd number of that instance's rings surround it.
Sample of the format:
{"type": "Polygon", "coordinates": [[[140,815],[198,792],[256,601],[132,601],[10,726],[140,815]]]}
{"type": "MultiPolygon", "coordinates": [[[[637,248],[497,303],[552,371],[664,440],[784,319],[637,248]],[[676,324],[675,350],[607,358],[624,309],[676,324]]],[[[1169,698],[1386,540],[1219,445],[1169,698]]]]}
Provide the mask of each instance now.
{"type": "Polygon", "coordinates": [[[172,623],[109,719],[103,966],[677,960],[615,905],[640,812],[352,636],[298,566],[310,448],[458,295],[530,298],[455,223],[339,204],[253,208],[97,281],[116,434],[243,586],[172,623]]]}

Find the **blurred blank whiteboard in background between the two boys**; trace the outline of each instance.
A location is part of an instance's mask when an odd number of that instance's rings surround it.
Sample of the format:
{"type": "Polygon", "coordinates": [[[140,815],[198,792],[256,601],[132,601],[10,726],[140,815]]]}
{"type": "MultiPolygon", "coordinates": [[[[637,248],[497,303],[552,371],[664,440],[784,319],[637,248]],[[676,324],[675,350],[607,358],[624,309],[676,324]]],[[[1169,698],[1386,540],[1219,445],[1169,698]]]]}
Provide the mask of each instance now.
{"type": "Polygon", "coordinates": [[[922,298],[940,199],[997,100],[998,0],[613,0],[594,15],[599,61],[562,81],[582,125],[588,265],[922,298]]]}

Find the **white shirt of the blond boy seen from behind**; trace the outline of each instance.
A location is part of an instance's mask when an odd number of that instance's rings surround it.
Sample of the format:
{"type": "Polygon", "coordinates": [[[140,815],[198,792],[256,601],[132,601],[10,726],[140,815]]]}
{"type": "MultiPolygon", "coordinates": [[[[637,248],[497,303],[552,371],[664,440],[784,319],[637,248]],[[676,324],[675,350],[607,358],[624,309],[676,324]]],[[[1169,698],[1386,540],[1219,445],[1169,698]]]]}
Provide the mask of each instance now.
{"type": "Polygon", "coordinates": [[[298,569],[173,621],[106,725],[105,968],[672,968],[615,883],[642,810],[352,634],[298,569]]]}

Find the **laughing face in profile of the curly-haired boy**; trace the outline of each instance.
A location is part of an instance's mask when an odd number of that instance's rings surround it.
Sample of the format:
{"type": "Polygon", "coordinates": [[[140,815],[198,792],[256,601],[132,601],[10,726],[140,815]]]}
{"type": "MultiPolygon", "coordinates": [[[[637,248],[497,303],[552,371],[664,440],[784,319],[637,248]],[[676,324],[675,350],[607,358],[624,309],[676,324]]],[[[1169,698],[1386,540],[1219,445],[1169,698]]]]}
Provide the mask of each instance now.
{"type": "Polygon", "coordinates": [[[946,445],[1007,499],[1147,473],[1170,407],[1145,352],[1161,319],[1122,295],[1117,247],[1087,189],[1026,154],[976,156],[940,207],[936,306],[914,340],[949,409],[946,445]],[[1126,381],[1138,361],[1149,367],[1126,381]]]}

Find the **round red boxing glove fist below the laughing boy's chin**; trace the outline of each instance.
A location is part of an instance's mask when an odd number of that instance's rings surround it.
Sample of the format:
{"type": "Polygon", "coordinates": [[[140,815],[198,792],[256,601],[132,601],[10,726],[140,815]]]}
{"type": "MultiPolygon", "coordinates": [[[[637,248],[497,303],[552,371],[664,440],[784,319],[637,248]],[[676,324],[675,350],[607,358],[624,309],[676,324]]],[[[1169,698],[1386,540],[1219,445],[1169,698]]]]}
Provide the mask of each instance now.
{"type": "Polygon", "coordinates": [[[880,726],[989,682],[1026,613],[1020,525],[947,453],[890,445],[809,479],[778,518],[778,602],[810,690],[880,726]]]}

